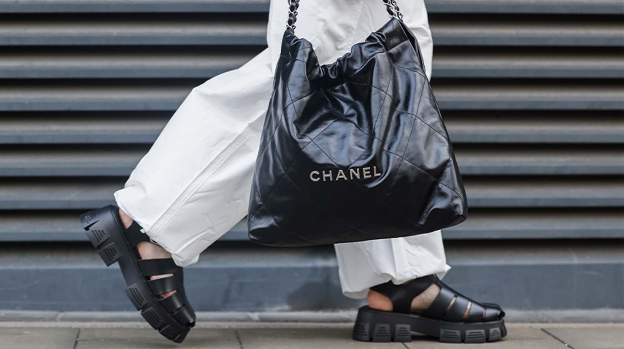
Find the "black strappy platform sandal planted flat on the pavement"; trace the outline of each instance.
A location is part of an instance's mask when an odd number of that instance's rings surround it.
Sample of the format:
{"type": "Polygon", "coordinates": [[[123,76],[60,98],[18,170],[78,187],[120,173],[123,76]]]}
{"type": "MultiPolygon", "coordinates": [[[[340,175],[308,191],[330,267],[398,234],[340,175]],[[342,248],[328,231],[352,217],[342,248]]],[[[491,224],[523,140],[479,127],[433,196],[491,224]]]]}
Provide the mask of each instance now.
{"type": "Polygon", "coordinates": [[[393,311],[359,308],[353,339],[363,342],[411,342],[411,332],[438,337],[440,342],[494,342],[507,335],[499,305],[479,303],[445,285],[435,275],[412,280],[404,285],[386,284],[371,287],[392,301],[393,311]],[[427,287],[437,284],[440,293],[422,313],[410,313],[412,300],[427,287]],[[464,313],[468,305],[468,317],[464,313]],[[452,305],[451,305],[452,303],[452,305]],[[451,308],[449,308],[451,305],[451,308]],[[448,308],[448,310],[447,310],[448,308]]]}

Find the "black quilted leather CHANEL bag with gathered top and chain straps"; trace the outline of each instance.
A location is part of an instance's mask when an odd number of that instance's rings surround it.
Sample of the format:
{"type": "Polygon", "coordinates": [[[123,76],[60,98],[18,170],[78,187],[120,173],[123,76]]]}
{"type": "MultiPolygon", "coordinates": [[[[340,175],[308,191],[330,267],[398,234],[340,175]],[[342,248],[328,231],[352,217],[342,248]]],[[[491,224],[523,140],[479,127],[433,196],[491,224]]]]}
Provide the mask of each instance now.
{"type": "Polygon", "coordinates": [[[411,236],[466,219],[466,192],[416,38],[398,7],[332,64],[295,36],[291,0],[256,160],[251,241],[411,236]]]}

